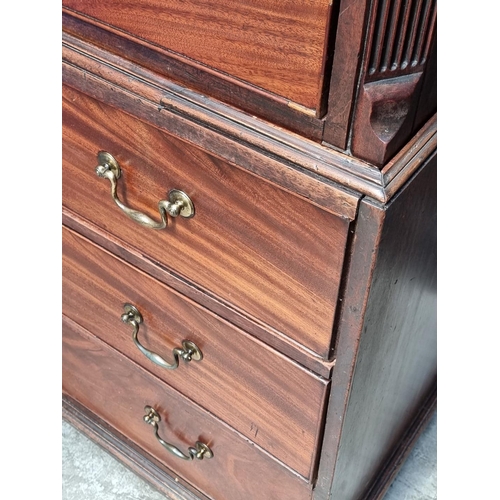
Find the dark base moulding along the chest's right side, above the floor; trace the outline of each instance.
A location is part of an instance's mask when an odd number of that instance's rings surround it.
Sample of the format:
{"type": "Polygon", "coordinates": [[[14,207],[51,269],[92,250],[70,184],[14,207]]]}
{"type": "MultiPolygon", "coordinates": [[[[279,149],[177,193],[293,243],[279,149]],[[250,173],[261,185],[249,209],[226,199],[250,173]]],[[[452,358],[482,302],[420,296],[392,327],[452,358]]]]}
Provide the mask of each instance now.
{"type": "Polygon", "coordinates": [[[388,458],[386,464],[377,475],[376,479],[360,500],[382,500],[387,490],[400,471],[405,460],[413,449],[418,438],[425,430],[429,421],[434,416],[437,408],[437,384],[430,391],[414,420],[401,438],[397,448],[388,458]]]}

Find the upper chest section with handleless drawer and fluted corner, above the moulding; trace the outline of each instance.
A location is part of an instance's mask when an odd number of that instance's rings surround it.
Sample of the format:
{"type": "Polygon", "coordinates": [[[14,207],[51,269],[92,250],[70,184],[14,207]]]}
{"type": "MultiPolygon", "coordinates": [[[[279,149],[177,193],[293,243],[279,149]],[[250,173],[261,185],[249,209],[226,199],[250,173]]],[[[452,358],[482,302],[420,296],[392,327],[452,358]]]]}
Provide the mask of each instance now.
{"type": "Polygon", "coordinates": [[[156,0],[143,0],[131,10],[67,0],[63,27],[136,67],[378,167],[436,112],[434,0],[259,2],[226,10],[219,0],[169,2],[158,10],[156,0]],[[409,75],[410,84],[397,79],[409,75]]]}

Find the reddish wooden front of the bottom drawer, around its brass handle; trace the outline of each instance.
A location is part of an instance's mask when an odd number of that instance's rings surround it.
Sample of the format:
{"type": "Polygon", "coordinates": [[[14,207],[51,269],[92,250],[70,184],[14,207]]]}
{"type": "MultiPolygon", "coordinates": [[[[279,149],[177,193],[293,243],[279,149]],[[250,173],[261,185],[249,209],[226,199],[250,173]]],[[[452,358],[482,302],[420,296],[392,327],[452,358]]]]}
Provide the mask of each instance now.
{"type": "Polygon", "coordinates": [[[63,392],[216,500],[305,500],[311,485],[149,372],[63,317],[63,392]],[[143,420],[157,410],[159,436],[183,453],[200,441],[213,457],[168,452],[143,420]]]}

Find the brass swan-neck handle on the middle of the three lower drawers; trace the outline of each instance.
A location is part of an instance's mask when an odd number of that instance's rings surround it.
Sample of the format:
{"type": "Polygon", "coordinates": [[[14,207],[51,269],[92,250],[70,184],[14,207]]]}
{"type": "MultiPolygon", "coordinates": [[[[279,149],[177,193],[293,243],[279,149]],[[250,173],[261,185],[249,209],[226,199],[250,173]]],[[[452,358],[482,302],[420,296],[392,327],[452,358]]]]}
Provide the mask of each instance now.
{"type": "Polygon", "coordinates": [[[183,340],[182,348],[176,347],[172,350],[174,362],[172,364],[167,363],[167,361],[165,361],[159,354],[146,349],[137,339],[137,335],[139,334],[139,325],[143,321],[142,315],[138,309],[132,304],[124,304],[123,309],[125,312],[122,314],[121,319],[124,323],[134,327],[132,339],[134,340],[135,345],[139,348],[142,354],[144,354],[144,356],[146,356],[153,363],[161,366],[162,368],[166,368],[167,370],[175,370],[179,366],[179,358],[182,358],[186,362],[191,360],[201,361],[203,359],[203,353],[194,342],[191,342],[190,340],[183,340]]]}

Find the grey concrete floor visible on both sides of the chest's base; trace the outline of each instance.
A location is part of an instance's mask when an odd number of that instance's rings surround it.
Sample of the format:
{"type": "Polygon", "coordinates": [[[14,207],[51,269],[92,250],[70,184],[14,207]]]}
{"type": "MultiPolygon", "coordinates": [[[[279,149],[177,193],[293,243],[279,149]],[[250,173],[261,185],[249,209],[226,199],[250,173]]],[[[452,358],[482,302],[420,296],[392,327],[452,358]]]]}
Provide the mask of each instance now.
{"type": "MultiPolygon", "coordinates": [[[[437,416],[434,415],[384,500],[436,500],[436,448],[437,416]]],[[[62,498],[165,500],[164,495],[65,421],[62,423],[62,498]]]]}

